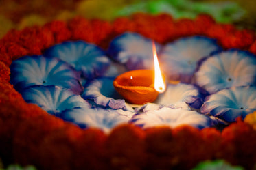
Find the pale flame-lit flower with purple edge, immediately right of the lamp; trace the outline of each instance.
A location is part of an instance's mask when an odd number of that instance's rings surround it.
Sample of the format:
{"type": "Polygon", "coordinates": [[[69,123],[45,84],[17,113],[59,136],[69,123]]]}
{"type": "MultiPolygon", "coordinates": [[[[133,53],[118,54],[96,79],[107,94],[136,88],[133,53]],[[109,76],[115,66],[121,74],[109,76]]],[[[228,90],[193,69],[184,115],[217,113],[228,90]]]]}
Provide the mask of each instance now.
{"type": "Polygon", "coordinates": [[[159,94],[157,104],[174,109],[200,109],[202,105],[202,95],[199,89],[190,84],[178,83],[168,84],[165,93],[159,94]]]}

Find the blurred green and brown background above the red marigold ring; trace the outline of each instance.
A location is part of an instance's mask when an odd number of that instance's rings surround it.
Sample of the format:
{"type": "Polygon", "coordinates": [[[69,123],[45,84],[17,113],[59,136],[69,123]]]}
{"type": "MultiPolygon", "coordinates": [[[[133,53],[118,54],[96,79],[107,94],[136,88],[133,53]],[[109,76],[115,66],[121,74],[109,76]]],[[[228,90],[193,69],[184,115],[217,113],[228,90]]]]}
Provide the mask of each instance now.
{"type": "Polygon", "coordinates": [[[255,5],[256,1],[243,0],[0,0],[0,38],[9,29],[43,25],[50,20],[69,20],[78,15],[114,20],[136,12],[165,12],[174,18],[206,13],[221,23],[255,29],[255,5]]]}

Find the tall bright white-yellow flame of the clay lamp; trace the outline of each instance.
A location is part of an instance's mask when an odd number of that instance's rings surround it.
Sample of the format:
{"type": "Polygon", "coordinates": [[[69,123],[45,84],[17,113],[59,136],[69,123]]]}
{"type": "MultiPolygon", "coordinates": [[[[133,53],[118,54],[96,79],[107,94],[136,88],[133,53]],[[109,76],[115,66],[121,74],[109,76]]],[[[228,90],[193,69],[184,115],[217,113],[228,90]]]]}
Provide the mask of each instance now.
{"type": "Polygon", "coordinates": [[[152,48],[154,55],[154,89],[159,93],[163,93],[163,91],[165,91],[165,81],[163,80],[163,76],[161,74],[159,61],[156,54],[156,45],[154,42],[152,48]]]}

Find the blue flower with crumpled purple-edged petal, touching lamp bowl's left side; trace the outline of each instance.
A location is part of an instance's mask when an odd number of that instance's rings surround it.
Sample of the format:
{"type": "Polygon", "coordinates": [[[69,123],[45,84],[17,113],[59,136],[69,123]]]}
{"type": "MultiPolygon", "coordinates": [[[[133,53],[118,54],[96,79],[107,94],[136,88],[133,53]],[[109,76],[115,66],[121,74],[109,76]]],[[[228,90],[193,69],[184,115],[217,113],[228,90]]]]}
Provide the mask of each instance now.
{"type": "Polygon", "coordinates": [[[86,100],[93,100],[96,104],[111,109],[128,110],[128,105],[121,99],[121,96],[115,91],[113,87],[113,78],[98,78],[90,81],[84,88],[82,98],[86,100]]]}

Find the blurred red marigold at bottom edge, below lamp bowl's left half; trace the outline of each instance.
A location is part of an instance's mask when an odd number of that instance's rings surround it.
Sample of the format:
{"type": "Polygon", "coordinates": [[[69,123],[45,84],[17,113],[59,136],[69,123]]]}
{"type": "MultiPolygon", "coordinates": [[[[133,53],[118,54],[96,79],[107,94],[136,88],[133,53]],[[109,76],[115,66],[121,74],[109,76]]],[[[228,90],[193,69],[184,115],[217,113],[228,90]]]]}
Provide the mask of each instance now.
{"type": "Polygon", "coordinates": [[[109,134],[106,149],[111,169],[141,169],[145,164],[145,133],[137,126],[118,126],[109,134]]]}

